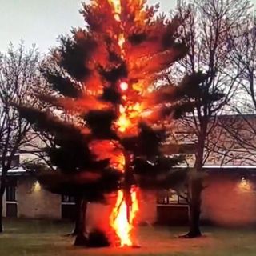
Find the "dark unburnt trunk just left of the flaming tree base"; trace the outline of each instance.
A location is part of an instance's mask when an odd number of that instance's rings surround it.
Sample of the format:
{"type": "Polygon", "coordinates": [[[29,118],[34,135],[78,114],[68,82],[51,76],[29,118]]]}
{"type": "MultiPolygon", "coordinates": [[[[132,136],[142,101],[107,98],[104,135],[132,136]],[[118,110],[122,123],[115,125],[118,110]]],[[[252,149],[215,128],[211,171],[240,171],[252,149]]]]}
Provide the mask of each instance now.
{"type": "Polygon", "coordinates": [[[80,217],[78,223],[78,230],[77,236],[74,241],[74,246],[87,246],[88,245],[88,238],[86,232],[86,210],[87,210],[87,201],[81,200],[80,205],[80,217]]]}

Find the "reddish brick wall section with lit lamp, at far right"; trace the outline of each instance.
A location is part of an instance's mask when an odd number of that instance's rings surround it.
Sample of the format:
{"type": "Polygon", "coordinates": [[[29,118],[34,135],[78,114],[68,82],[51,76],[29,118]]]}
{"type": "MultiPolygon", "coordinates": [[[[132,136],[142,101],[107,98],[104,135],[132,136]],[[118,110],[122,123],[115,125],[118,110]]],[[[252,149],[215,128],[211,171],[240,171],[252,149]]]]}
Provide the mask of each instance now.
{"type": "Polygon", "coordinates": [[[220,226],[256,224],[254,176],[210,174],[202,194],[202,219],[220,226]]]}

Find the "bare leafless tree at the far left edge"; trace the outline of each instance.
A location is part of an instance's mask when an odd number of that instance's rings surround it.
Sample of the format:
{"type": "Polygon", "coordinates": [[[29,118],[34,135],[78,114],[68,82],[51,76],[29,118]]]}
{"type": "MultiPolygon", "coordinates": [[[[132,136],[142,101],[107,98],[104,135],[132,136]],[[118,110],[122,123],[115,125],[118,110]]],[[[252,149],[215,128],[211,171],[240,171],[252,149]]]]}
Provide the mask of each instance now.
{"type": "Polygon", "coordinates": [[[26,51],[23,43],[17,50],[10,46],[0,64],[0,232],[2,229],[2,198],[7,186],[7,173],[14,156],[34,139],[30,123],[21,118],[14,103],[36,104],[34,90],[40,85],[39,54],[35,47],[26,51]]]}

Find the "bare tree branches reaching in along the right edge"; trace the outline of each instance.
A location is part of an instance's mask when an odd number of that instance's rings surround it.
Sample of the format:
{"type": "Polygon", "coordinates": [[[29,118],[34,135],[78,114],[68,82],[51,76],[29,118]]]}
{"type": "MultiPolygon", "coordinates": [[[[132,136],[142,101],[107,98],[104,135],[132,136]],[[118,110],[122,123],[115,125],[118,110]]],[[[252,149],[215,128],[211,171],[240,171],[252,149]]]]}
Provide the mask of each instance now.
{"type": "Polygon", "coordinates": [[[234,30],[232,46],[234,51],[230,54],[230,62],[239,67],[238,92],[235,101],[230,102],[234,117],[228,123],[222,123],[226,136],[235,145],[235,150],[226,148],[230,158],[239,159],[246,165],[256,162],[256,26],[255,16],[251,14],[244,24],[238,24],[234,30]]]}

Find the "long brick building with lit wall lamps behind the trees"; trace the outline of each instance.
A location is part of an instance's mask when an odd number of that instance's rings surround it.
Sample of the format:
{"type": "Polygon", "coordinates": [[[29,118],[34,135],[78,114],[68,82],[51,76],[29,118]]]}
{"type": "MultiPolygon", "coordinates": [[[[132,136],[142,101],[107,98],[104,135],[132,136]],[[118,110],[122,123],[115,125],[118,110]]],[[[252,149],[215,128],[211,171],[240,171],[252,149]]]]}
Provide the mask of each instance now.
{"type": "MultiPolygon", "coordinates": [[[[224,117],[225,118],[225,117],[224,117]]],[[[255,118],[254,118],[255,119],[255,118]]],[[[188,146],[196,145],[191,127],[180,125],[175,130],[177,136],[188,146]],[[185,135],[185,137],[184,137],[185,135]],[[185,138],[185,139],[184,139],[185,138]]],[[[216,128],[216,133],[218,128],[216,128]]],[[[241,146],[223,152],[230,145],[230,138],[222,133],[227,146],[223,150],[213,150],[206,161],[205,189],[202,193],[202,221],[217,225],[239,226],[256,224],[256,166],[254,167],[253,151],[249,153],[241,146]],[[236,158],[239,152],[239,158],[236,158]],[[242,161],[241,152],[248,154],[242,161]],[[249,161],[248,159],[251,159],[249,161]],[[248,162],[249,161],[249,162],[248,162]]],[[[217,136],[211,136],[213,142],[217,136]]],[[[191,152],[190,152],[191,153],[191,152]]],[[[20,154],[15,165],[28,158],[20,154]]],[[[194,165],[194,154],[187,155],[190,167],[194,165]]],[[[1,174],[1,173],[0,173],[1,174]]],[[[65,195],[51,194],[44,190],[36,178],[26,170],[16,168],[8,174],[8,187],[4,195],[3,215],[18,218],[72,218],[74,217],[74,198],[65,195]]],[[[90,222],[104,221],[111,206],[90,204],[88,218],[90,222]]],[[[141,191],[140,213],[138,222],[181,225],[188,221],[186,201],[172,190],[141,191]]]]}

